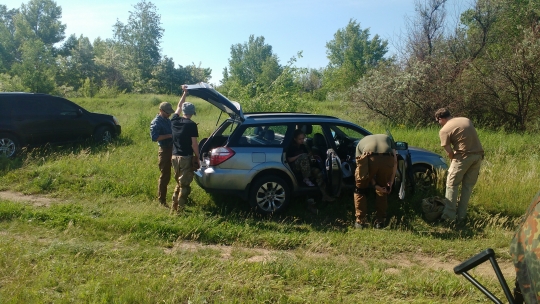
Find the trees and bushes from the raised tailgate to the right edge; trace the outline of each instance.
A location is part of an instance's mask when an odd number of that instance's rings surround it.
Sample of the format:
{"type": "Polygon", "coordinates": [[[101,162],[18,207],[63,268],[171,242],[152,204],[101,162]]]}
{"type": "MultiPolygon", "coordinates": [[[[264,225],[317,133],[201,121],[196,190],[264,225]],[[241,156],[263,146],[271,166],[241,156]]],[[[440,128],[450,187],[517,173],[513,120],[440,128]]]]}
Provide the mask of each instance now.
{"type": "Polygon", "coordinates": [[[433,124],[447,107],[486,128],[540,130],[540,1],[475,0],[455,24],[450,2],[417,0],[394,56],[351,19],[327,42],[329,64],[319,70],[280,66],[264,37],[252,36],[231,47],[220,89],[252,110],[301,109],[297,92],[395,124],[433,124]]]}

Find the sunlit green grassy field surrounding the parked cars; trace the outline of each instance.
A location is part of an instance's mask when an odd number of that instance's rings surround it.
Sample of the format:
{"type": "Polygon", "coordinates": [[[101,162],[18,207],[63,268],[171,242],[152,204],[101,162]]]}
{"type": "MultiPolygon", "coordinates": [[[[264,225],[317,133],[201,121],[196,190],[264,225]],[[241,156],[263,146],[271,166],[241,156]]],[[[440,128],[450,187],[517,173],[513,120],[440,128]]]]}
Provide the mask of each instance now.
{"type": "MultiPolygon", "coordinates": [[[[170,216],[154,199],[159,172],[149,124],[161,101],[177,100],[74,100],[115,115],[122,136],[108,146],[44,147],[0,160],[0,191],[11,194],[0,197],[1,303],[487,302],[452,268],[489,247],[513,284],[508,245],[539,190],[537,135],[480,130],[486,160],[464,229],[422,219],[421,199],[443,195],[442,180],[404,201],[394,194],[385,230],[353,229],[348,192],[317,215],[298,198],[285,214],[262,217],[194,183],[186,212],[170,216]]],[[[206,137],[219,112],[189,101],[206,137]]],[[[337,103],[311,106],[373,132],[387,127],[337,103]]],[[[436,125],[391,130],[442,154],[436,125]]],[[[475,274],[504,297],[489,268],[475,274]]]]}

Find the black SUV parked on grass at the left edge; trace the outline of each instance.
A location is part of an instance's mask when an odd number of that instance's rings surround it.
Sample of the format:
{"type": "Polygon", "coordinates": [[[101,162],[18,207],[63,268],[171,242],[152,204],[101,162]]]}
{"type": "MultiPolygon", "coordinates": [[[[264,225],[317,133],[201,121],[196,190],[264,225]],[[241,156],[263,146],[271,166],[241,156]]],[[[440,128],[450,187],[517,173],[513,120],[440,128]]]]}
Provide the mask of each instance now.
{"type": "Polygon", "coordinates": [[[93,137],[109,142],[120,134],[118,120],[91,113],[56,96],[0,93],[0,155],[11,157],[22,146],[63,143],[93,137]]]}

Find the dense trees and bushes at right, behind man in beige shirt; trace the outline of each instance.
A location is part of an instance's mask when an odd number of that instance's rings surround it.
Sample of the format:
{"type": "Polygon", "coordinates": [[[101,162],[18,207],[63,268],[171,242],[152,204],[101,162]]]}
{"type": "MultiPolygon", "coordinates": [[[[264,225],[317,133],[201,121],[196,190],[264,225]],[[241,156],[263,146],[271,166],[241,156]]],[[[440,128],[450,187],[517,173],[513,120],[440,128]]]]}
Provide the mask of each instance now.
{"type": "Polygon", "coordinates": [[[454,27],[449,2],[417,2],[401,56],[365,73],[350,101],[408,125],[448,107],[484,127],[540,130],[540,1],[475,0],[454,27]]]}

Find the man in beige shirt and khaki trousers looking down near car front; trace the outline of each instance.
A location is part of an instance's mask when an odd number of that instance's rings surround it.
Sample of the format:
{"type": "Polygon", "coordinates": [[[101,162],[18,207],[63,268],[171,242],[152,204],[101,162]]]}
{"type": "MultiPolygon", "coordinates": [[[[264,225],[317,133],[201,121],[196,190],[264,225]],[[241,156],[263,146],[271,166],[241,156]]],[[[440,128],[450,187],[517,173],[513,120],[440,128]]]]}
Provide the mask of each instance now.
{"type": "Polygon", "coordinates": [[[451,161],[445,195],[450,203],[445,206],[442,219],[465,223],[469,199],[484,159],[484,149],[470,119],[452,117],[445,108],[435,112],[435,119],[442,126],[439,131],[441,146],[451,161]],[[461,195],[458,202],[459,186],[461,195]]]}

